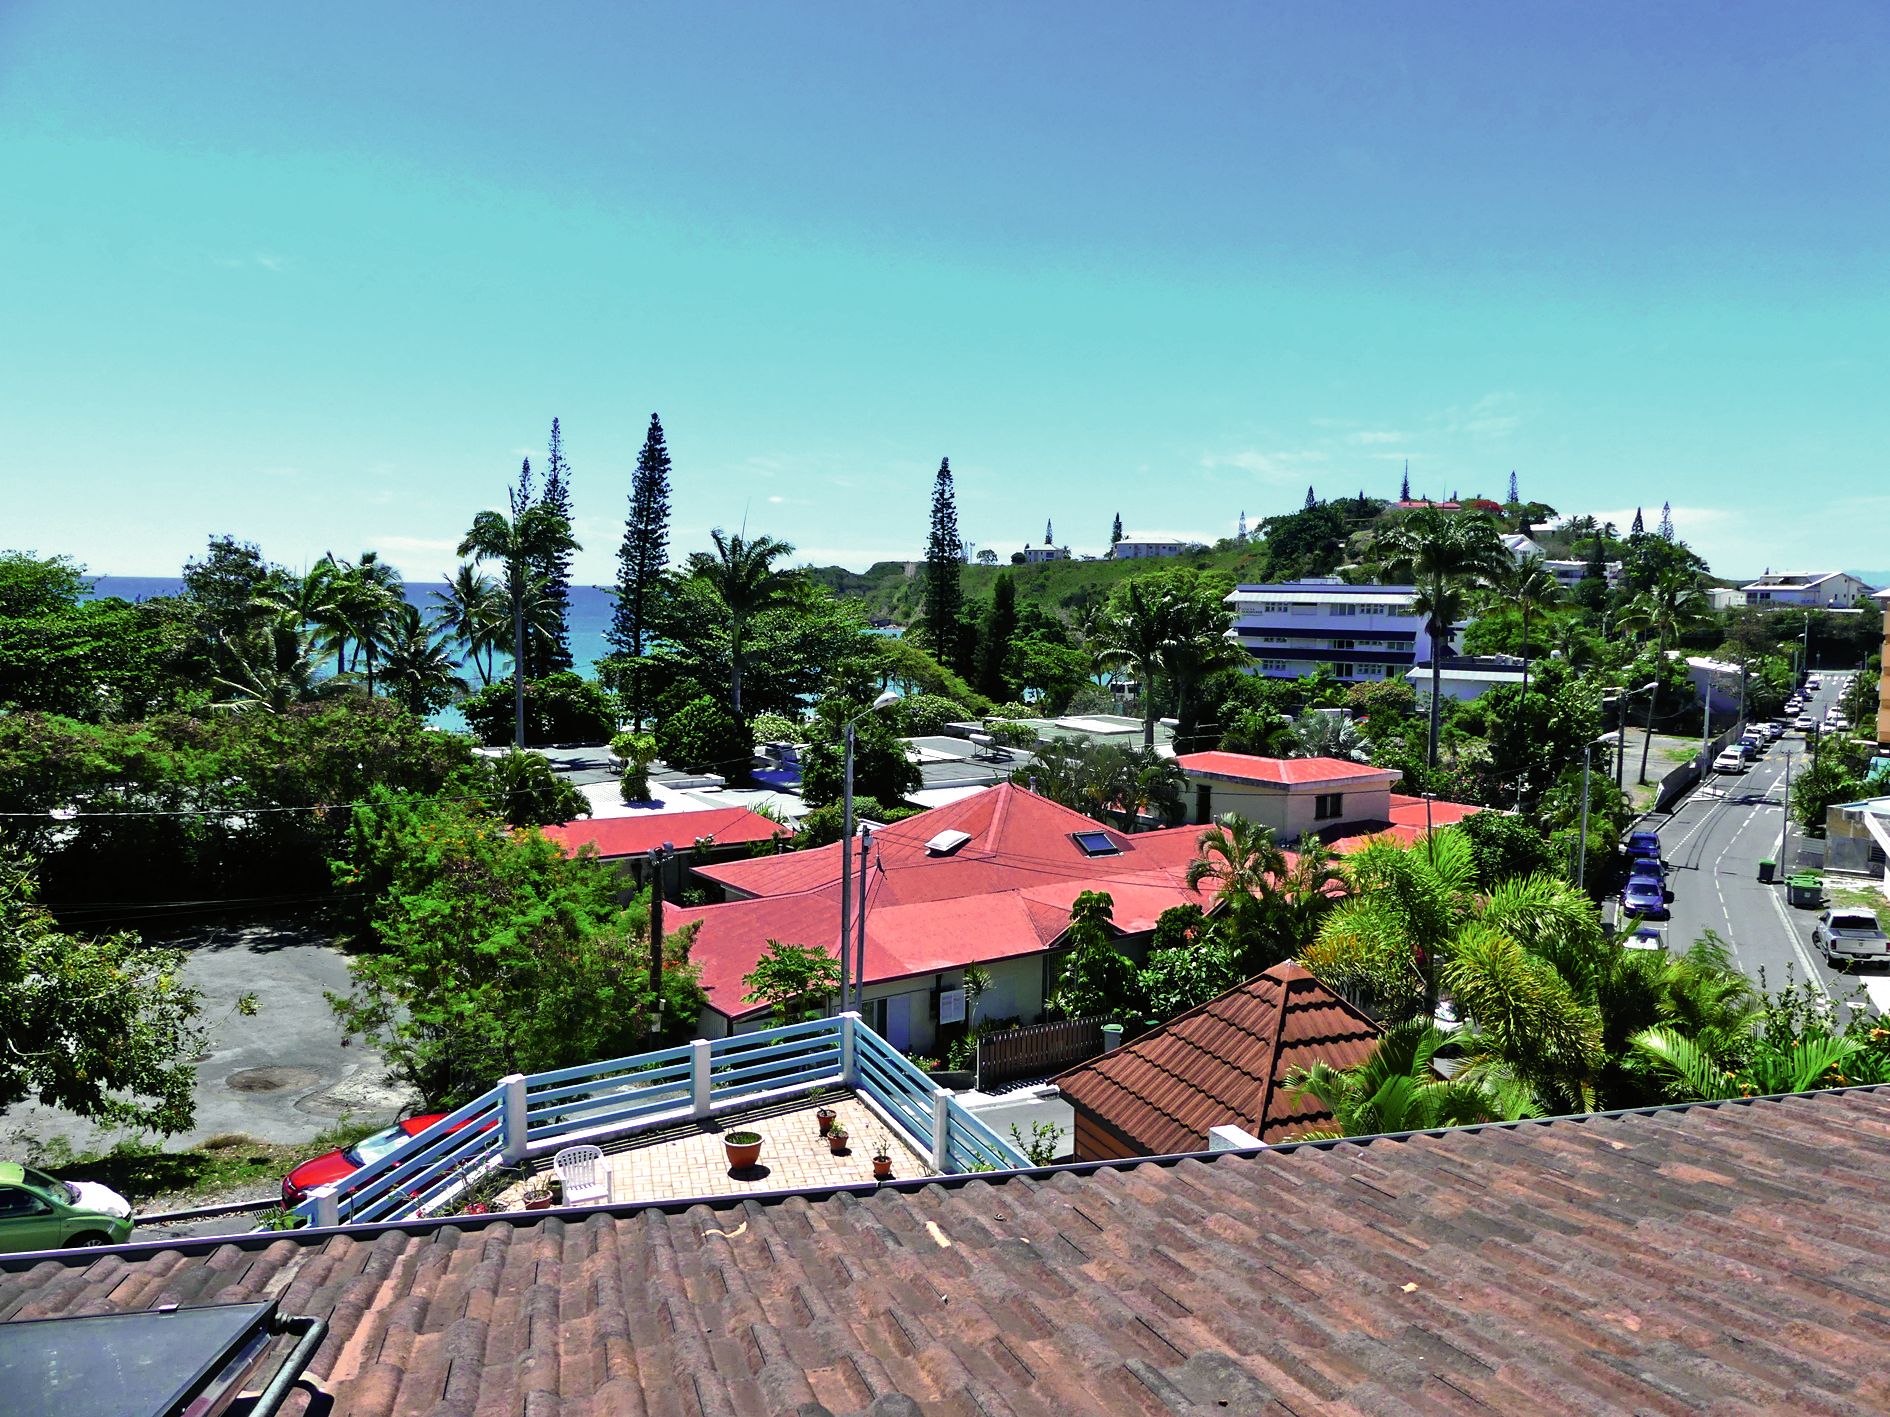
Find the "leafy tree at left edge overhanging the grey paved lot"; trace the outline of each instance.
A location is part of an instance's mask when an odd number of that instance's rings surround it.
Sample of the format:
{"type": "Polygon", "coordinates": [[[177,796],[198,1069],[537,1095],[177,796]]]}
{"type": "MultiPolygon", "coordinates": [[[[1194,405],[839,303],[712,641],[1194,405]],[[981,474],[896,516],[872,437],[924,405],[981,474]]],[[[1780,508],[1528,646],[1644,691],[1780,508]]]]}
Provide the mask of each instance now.
{"type": "Polygon", "coordinates": [[[200,1015],[181,950],[68,935],[38,903],[30,865],[0,852],[0,1109],[30,1098],[108,1126],[183,1132],[191,1058],[208,1039],[200,1015]]]}

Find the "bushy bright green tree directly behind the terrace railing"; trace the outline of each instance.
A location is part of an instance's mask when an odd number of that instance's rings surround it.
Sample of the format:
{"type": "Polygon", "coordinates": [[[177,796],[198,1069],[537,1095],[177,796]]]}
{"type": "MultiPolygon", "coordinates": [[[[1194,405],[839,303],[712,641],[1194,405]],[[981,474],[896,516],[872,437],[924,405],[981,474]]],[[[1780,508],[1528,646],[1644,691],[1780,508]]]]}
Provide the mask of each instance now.
{"type": "Polygon", "coordinates": [[[353,811],[338,882],[369,896],[376,948],[329,1003],[429,1105],[696,1032],[686,937],[663,941],[652,996],[646,901],[618,907],[622,877],[595,856],[465,803],[376,794],[353,811]]]}

